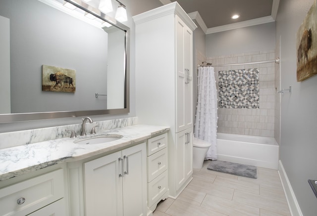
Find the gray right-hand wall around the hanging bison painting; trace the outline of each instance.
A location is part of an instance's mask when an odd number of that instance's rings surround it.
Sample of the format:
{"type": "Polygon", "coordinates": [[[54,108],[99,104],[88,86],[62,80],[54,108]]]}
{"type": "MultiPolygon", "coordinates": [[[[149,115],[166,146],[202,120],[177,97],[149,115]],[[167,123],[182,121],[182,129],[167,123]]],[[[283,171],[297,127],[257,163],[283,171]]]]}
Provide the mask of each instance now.
{"type": "Polygon", "coordinates": [[[317,199],[307,182],[317,179],[317,76],[296,81],[296,33],[313,1],[281,0],[276,18],[281,88],[292,86],[291,94],[281,96],[280,159],[304,216],[317,213],[317,199]]]}

